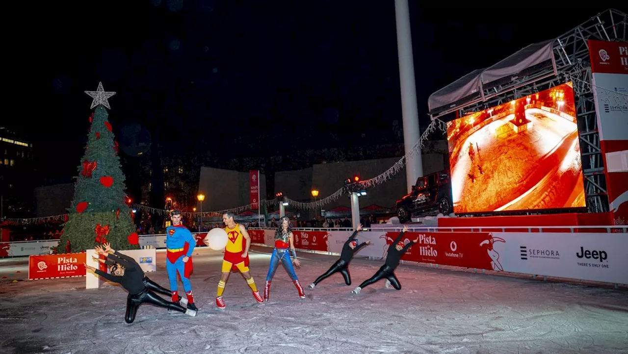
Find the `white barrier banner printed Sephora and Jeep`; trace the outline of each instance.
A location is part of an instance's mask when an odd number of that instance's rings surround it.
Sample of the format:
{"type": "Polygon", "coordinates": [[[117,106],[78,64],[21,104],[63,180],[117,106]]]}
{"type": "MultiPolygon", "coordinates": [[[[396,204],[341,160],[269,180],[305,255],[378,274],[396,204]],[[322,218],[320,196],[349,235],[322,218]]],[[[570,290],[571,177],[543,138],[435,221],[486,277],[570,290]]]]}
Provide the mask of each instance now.
{"type": "Polygon", "coordinates": [[[625,233],[494,232],[506,272],[628,284],[625,233]]]}

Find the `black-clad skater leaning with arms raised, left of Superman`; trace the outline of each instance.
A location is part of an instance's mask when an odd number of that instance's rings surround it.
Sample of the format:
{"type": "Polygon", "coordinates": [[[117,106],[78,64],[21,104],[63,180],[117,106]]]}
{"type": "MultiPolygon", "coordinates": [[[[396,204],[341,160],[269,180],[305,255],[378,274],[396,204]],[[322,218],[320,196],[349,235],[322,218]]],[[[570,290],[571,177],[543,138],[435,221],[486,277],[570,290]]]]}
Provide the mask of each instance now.
{"type": "Polygon", "coordinates": [[[141,304],[151,304],[169,310],[173,309],[189,316],[196,316],[196,311],[183,308],[180,304],[171,303],[155,294],[153,291],[166,295],[170,295],[171,292],[144,276],[144,271],[133,258],[112,250],[109,244],[104,244],[104,249],[96,246],[94,250],[97,254],[107,257],[107,260],[96,259],[95,257],[94,259],[109,264],[111,274],[87,266],[87,264],[85,264],[85,268],[109,281],[117,282],[129,292],[126,300],[126,314],[124,315],[126,323],[133,323],[141,304]]]}

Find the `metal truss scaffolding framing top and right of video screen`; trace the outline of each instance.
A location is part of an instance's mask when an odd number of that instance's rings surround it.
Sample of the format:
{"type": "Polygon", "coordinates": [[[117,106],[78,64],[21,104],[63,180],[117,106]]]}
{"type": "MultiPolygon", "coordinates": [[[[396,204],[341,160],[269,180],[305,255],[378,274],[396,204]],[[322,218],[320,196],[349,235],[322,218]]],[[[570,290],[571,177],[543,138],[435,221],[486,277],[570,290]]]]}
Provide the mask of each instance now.
{"type": "Polygon", "coordinates": [[[442,123],[452,119],[443,119],[445,115],[458,111],[458,117],[463,117],[571,81],[576,96],[588,211],[608,212],[609,198],[597,130],[587,40],[626,41],[627,31],[626,14],[616,9],[607,9],[556,38],[553,45],[554,67],[528,77],[514,78],[511,82],[498,87],[484,89],[482,92],[484,100],[470,102],[465,106],[458,106],[432,116],[430,126],[434,125],[439,127],[439,130],[446,131],[447,128],[443,129],[442,123]]]}

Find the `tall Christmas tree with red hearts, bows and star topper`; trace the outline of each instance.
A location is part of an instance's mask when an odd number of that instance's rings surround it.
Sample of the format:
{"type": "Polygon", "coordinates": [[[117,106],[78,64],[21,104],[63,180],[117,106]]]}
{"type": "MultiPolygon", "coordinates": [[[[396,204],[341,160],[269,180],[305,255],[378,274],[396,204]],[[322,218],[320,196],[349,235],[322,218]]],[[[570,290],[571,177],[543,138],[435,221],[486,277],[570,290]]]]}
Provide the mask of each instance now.
{"type": "Polygon", "coordinates": [[[85,154],[78,166],[74,200],[57,253],[84,252],[95,245],[111,243],[115,250],[139,249],[133,213],[126,204],[124,174],[117,156],[111,123],[107,120],[109,102],[115,92],[105,92],[102,83],[96,91],[85,91],[96,107],[90,117],[85,154]]]}

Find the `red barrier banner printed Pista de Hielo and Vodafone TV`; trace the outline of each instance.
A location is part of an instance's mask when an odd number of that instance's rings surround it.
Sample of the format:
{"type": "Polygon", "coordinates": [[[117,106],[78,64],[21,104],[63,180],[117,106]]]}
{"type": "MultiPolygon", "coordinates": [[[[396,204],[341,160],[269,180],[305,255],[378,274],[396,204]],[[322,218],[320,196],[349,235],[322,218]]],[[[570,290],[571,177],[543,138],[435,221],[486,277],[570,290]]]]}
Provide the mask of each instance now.
{"type": "MultiPolygon", "coordinates": [[[[386,233],[386,244],[391,247],[398,235],[386,233]]],[[[495,266],[499,254],[494,252],[493,243],[501,239],[492,237],[489,232],[406,232],[402,241],[408,244],[417,238],[419,242],[410,247],[402,260],[499,270],[495,266]]]]}

